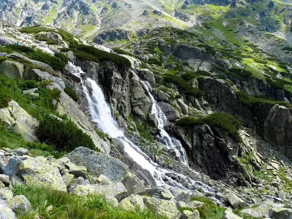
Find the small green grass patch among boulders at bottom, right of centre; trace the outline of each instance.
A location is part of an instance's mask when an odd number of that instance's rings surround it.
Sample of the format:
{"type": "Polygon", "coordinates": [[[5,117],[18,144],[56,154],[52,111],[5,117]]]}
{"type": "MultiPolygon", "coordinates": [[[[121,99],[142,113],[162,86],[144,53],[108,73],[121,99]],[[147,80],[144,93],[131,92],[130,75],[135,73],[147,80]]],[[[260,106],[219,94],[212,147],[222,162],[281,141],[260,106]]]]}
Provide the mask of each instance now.
{"type": "Polygon", "coordinates": [[[204,207],[198,207],[200,219],[220,219],[222,218],[225,208],[217,206],[212,199],[207,197],[191,197],[191,201],[201,201],[205,204],[204,207]]]}

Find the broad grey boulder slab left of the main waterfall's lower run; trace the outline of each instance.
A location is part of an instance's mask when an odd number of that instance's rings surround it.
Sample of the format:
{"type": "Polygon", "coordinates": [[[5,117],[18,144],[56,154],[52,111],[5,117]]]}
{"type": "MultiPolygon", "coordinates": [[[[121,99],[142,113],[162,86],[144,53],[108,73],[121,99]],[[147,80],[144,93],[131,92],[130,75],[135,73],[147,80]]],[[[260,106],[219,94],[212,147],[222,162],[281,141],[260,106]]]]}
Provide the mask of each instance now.
{"type": "Polygon", "coordinates": [[[129,195],[145,193],[144,185],[129,172],[128,165],[116,158],[87,147],[77,147],[64,157],[68,157],[73,164],[85,166],[91,175],[100,176],[103,174],[112,182],[124,183],[129,195]]]}

